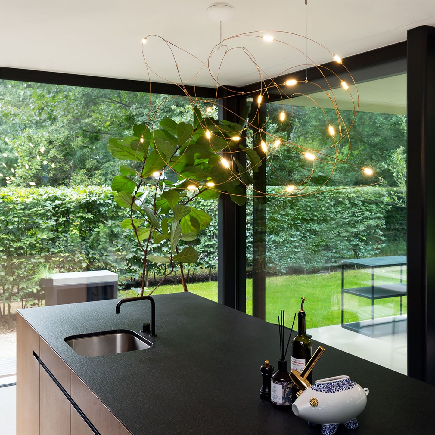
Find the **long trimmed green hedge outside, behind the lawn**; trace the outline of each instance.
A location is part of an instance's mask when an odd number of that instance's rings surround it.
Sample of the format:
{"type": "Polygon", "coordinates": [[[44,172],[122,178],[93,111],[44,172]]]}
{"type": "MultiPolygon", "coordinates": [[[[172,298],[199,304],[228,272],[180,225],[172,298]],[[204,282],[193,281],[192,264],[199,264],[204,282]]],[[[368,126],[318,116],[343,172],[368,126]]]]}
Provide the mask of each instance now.
{"type": "MultiPolygon", "coordinates": [[[[109,187],[2,187],[0,189],[0,302],[32,304],[38,287],[29,280],[37,266],[58,271],[109,269],[121,278],[139,277],[136,241],[120,227],[124,210],[109,187]]],[[[359,187],[267,199],[268,274],[318,271],[341,258],[381,252],[388,239],[405,240],[402,221],[391,214],[387,189],[359,187]]],[[[194,241],[200,258],[194,270],[217,268],[218,218],[215,201],[197,199],[194,207],[212,216],[194,241]]],[[[252,203],[247,202],[247,268],[251,267],[252,203]]],[[[159,245],[151,246],[159,255],[159,245]]],[[[392,253],[394,254],[394,253],[392,253]]],[[[163,266],[148,264],[159,276],[163,266]]]]}

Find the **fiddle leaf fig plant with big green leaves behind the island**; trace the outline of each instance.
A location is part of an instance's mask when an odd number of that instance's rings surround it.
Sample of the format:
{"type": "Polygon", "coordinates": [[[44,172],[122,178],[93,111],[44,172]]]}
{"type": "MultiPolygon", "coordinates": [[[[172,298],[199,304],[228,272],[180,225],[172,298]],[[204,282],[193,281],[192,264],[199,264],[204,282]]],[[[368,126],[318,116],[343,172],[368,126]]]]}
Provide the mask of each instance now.
{"type": "MultiPolygon", "coordinates": [[[[205,211],[191,205],[196,197],[213,200],[226,191],[234,202],[246,201],[241,184],[251,183],[249,167],[233,154],[221,156],[238,149],[242,131],[240,124],[204,118],[194,107],[192,124],[165,118],[158,128],[135,124],[132,136],[109,140],[107,149],[123,161],[120,174],[112,181],[112,190],[117,192],[114,200],[126,209],[121,226],[133,232],[143,253],[141,295],[147,261],[166,265],[166,274],[157,287],[178,266],[187,291],[183,264],[198,260],[191,242],[211,222],[205,211]],[[151,252],[152,246],[158,246],[159,251],[151,252]]],[[[253,160],[251,166],[256,170],[257,157],[253,160]]]]}

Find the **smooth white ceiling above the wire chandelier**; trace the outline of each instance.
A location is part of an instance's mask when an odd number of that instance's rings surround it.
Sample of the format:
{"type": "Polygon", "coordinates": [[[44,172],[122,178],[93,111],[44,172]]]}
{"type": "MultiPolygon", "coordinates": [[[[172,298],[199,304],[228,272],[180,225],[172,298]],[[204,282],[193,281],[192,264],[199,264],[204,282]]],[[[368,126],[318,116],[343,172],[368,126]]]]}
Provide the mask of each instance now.
{"type": "MultiPolygon", "coordinates": [[[[0,4],[0,65],[63,73],[148,80],[141,40],[148,34],[164,37],[205,62],[219,43],[219,23],[206,13],[212,0],[2,0],[0,4]]],[[[406,31],[435,25],[435,3],[421,0],[232,0],[236,17],[222,24],[223,37],[255,30],[284,30],[307,35],[341,57],[358,54],[406,39],[406,31]]],[[[302,53],[277,41],[260,38],[230,40],[228,47],[248,48],[264,77],[305,64],[305,40],[279,40],[296,45],[302,53]]],[[[331,60],[324,49],[308,43],[308,56],[315,63],[331,60]]],[[[144,45],[148,65],[164,79],[179,82],[174,59],[166,44],[149,37],[144,45]]],[[[219,51],[219,54],[222,50],[219,51]]],[[[184,82],[197,74],[201,62],[175,50],[184,82]]],[[[211,69],[216,74],[217,56],[211,69]]],[[[293,68],[293,69],[291,69],[293,68]]],[[[151,80],[164,79],[151,74],[151,80]]],[[[241,86],[259,80],[258,71],[241,50],[225,58],[219,82],[241,86]]],[[[193,82],[189,82],[193,84],[193,82]]],[[[204,68],[199,86],[214,86],[204,68]]]]}

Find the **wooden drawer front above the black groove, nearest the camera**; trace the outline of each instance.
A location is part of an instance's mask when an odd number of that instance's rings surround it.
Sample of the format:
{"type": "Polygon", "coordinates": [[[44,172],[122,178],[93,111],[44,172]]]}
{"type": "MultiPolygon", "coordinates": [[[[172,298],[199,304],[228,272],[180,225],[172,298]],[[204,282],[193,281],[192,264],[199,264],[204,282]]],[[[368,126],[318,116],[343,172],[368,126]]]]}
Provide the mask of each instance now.
{"type": "MultiPolygon", "coordinates": [[[[101,435],[120,435],[119,420],[84,382],[71,371],[71,397],[101,435]]],[[[123,426],[124,428],[124,426],[123,426]]],[[[124,435],[129,432],[122,432],[124,435]]]]}

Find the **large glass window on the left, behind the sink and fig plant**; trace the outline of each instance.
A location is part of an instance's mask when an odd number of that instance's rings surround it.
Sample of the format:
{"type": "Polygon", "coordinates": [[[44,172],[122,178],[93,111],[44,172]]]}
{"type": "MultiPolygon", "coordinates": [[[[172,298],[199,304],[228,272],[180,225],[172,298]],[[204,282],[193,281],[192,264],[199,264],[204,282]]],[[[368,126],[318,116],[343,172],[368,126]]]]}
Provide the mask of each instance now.
{"type": "MultiPolygon", "coordinates": [[[[0,81],[0,100],[0,358],[6,359],[15,357],[17,308],[46,302],[41,278],[107,270],[118,275],[120,296],[137,294],[131,289],[141,287],[143,254],[132,231],[121,228],[128,214],[111,188],[120,164],[132,163],[115,159],[107,144],[132,136],[134,124],[159,129],[167,117],[192,123],[193,112],[184,97],[9,80],[0,81]]],[[[210,106],[200,104],[204,112],[210,106]]],[[[217,117],[217,108],[207,113],[217,117]]],[[[170,170],[159,176],[177,181],[170,170]]],[[[211,223],[180,243],[199,253],[184,268],[187,288],[217,300],[217,199],[189,204],[211,223]]],[[[167,255],[165,249],[161,242],[149,248],[156,256],[167,255]]],[[[148,290],[167,272],[148,261],[148,290]]],[[[183,291],[180,272],[176,264],[156,294],[183,291]]]]}

